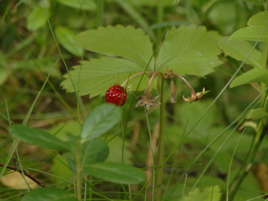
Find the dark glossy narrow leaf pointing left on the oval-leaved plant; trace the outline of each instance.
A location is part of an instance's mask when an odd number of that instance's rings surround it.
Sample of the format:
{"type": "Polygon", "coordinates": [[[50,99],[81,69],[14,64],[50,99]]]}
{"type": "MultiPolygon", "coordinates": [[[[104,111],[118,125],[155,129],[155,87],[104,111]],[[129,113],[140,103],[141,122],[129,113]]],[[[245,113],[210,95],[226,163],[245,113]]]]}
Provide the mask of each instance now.
{"type": "Polygon", "coordinates": [[[68,146],[64,142],[42,129],[15,124],[9,127],[9,133],[23,142],[28,142],[40,147],[55,149],[58,151],[69,150],[68,146]]]}

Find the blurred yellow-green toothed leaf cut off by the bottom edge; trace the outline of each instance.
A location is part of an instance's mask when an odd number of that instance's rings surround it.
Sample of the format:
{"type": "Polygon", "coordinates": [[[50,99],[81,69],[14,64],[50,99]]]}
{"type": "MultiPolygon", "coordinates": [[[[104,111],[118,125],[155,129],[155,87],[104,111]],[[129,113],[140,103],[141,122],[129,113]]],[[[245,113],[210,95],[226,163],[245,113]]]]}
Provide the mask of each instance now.
{"type": "Polygon", "coordinates": [[[183,196],[183,201],[219,201],[221,200],[221,189],[219,186],[207,187],[201,192],[199,188],[195,188],[188,195],[183,196]],[[213,188],[213,192],[212,192],[213,188]],[[213,195],[212,195],[213,193],[213,195]],[[211,198],[212,195],[212,198],[211,198]]]}

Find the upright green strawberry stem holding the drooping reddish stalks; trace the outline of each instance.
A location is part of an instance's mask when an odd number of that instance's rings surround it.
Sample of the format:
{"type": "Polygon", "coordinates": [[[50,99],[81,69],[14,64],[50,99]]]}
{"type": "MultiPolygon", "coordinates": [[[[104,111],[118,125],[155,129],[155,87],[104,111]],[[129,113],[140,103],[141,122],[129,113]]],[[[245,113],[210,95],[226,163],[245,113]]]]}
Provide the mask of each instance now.
{"type": "MultiPolygon", "coordinates": [[[[159,115],[159,137],[158,137],[158,153],[157,153],[157,166],[163,164],[164,161],[164,132],[163,132],[163,112],[164,112],[164,104],[163,104],[163,91],[164,91],[164,81],[162,78],[161,88],[160,88],[160,115],[159,115]]],[[[161,167],[160,167],[161,168],[161,167]]],[[[161,183],[162,183],[163,169],[161,168],[156,175],[156,186],[157,186],[157,197],[160,198],[162,195],[161,191],[161,183]]]]}

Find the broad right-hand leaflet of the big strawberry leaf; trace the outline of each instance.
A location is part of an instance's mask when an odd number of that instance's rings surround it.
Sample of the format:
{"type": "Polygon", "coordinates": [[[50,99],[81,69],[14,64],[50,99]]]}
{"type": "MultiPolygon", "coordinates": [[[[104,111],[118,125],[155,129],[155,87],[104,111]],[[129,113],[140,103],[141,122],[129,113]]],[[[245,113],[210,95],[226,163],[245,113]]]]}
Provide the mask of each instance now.
{"type": "Polygon", "coordinates": [[[165,72],[168,65],[177,74],[207,75],[221,64],[217,58],[221,53],[217,46],[219,38],[217,32],[207,31],[204,26],[172,27],[160,50],[156,69],[165,72]]]}

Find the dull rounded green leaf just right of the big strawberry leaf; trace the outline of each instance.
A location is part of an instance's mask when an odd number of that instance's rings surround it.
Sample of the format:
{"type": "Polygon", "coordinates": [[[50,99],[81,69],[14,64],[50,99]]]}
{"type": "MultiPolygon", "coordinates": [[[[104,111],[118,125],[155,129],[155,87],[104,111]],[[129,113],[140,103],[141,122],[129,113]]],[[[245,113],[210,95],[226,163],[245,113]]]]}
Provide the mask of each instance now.
{"type": "MultiPolygon", "coordinates": [[[[228,36],[225,36],[218,41],[219,48],[222,49],[224,54],[238,60],[244,61],[248,52],[252,49],[252,46],[247,41],[242,40],[228,40],[228,36]]],[[[254,67],[260,68],[260,60],[262,53],[256,49],[253,50],[248,57],[246,64],[250,64],[254,67]]]]}

